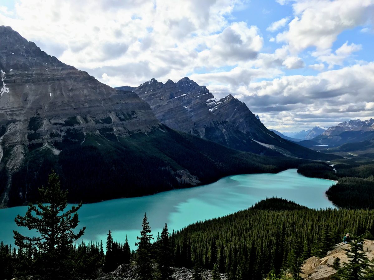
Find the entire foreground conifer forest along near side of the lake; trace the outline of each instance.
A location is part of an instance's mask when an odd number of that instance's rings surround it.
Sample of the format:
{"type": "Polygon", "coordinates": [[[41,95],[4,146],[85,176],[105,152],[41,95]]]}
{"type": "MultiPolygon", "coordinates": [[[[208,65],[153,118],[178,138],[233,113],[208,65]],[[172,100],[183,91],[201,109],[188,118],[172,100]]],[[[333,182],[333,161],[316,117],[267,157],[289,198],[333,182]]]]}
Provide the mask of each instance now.
{"type": "Polygon", "coordinates": [[[270,273],[280,277],[285,272],[298,279],[305,259],[325,256],[347,232],[372,239],[374,210],[315,210],[269,198],[177,233],[169,234],[165,224],[154,242],[145,216],[137,252],[130,252],[127,239],[123,244],[113,241],[110,231],[105,248],[102,243],[72,244],[53,258],[38,246],[16,249],[1,243],[0,279],[95,279],[126,263],[135,265],[140,279],[146,280],[171,279],[171,266],[193,268],[193,279],[199,279],[203,269],[216,276],[227,273],[230,280],[264,279],[270,273]]]}

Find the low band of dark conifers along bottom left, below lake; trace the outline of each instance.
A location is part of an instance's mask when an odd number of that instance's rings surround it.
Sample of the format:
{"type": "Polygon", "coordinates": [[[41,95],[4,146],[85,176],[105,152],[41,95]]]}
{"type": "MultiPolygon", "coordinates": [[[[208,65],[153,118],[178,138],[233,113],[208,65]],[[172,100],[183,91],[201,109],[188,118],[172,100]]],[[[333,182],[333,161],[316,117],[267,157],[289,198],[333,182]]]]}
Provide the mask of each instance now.
{"type": "Polygon", "coordinates": [[[37,247],[27,249],[0,243],[0,279],[13,277],[34,279],[95,279],[103,272],[115,270],[120,264],[128,264],[135,255],[124,244],[107,240],[107,250],[101,243],[74,244],[66,248],[64,258],[46,258],[37,247]],[[108,249],[110,247],[110,249],[108,249]],[[51,271],[55,274],[51,275],[51,271]]]}

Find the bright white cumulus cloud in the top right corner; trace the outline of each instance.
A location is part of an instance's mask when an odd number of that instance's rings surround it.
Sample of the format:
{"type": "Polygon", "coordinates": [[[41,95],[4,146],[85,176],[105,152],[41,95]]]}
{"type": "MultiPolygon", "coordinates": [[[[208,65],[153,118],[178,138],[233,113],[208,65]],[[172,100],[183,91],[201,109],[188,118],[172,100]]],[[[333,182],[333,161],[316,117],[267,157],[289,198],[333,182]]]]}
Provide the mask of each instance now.
{"type": "MultiPolygon", "coordinates": [[[[374,0],[296,0],[292,1],[294,19],[288,30],[277,35],[278,42],[289,44],[292,52],[307,47],[330,49],[337,36],[373,20],[374,0]]],[[[284,4],[284,3],[283,3],[284,4]]]]}

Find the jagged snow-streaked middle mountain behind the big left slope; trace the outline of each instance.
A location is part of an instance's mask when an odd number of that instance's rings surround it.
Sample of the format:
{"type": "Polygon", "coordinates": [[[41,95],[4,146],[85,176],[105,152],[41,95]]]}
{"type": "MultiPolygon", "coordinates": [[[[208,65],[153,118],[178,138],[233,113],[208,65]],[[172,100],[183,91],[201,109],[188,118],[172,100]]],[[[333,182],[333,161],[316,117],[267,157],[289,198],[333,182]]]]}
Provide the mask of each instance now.
{"type": "Polygon", "coordinates": [[[151,79],[132,90],[146,101],[157,119],[182,132],[215,141],[233,149],[260,155],[322,159],[324,155],[300,147],[269,131],[245,105],[232,94],[215,99],[205,87],[185,77],[165,84],[151,79]]]}

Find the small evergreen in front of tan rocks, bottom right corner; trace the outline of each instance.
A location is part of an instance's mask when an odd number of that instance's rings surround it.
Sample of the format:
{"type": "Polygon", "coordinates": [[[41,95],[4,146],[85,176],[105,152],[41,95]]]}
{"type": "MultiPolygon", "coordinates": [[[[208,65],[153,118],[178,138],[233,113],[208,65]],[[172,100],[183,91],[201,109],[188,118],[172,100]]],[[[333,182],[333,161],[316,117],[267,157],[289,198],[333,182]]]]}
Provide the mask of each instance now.
{"type": "Polygon", "coordinates": [[[363,242],[361,237],[352,238],[349,248],[344,249],[349,262],[343,262],[343,267],[339,268],[335,278],[342,280],[364,279],[363,274],[367,269],[370,269],[370,262],[365,252],[362,251],[362,245],[358,244],[363,242]]]}

